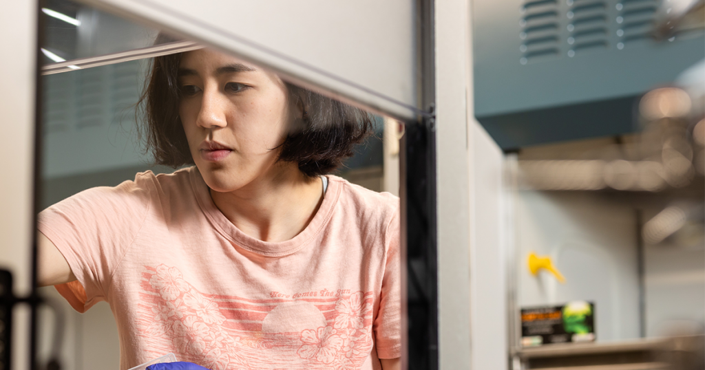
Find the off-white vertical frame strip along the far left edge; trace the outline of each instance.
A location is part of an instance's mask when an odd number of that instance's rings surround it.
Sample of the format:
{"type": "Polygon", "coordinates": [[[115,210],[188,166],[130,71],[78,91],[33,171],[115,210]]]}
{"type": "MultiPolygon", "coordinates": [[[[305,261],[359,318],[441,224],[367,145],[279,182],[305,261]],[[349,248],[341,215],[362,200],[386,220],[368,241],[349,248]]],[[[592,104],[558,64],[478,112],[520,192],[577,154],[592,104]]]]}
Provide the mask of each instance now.
{"type": "MultiPolygon", "coordinates": [[[[0,145],[0,267],[15,278],[16,293],[30,292],[30,236],[32,235],[32,142],[35,123],[35,66],[37,54],[37,4],[4,1],[0,12],[3,46],[0,112],[3,135],[0,145]]],[[[29,369],[29,316],[15,310],[12,369],[29,369]]]]}

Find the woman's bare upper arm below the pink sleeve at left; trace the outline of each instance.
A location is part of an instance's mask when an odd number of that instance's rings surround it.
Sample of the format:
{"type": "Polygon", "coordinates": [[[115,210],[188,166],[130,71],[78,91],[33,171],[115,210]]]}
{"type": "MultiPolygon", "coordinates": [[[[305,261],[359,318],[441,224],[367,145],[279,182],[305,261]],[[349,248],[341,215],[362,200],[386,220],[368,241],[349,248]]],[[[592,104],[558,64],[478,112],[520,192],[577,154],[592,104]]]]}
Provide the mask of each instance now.
{"type": "Polygon", "coordinates": [[[71,267],[49,238],[37,232],[37,283],[39,286],[71,283],[76,280],[71,267]]]}

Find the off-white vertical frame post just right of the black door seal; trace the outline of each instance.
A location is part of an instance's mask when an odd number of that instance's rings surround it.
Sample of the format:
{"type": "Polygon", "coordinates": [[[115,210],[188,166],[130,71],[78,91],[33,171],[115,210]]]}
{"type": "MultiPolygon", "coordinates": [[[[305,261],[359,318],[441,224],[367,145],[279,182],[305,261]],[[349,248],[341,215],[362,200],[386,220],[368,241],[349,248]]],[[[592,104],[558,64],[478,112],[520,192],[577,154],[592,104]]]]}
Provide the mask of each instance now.
{"type": "Polygon", "coordinates": [[[439,363],[470,369],[470,178],[467,0],[436,1],[436,192],[439,363]]]}

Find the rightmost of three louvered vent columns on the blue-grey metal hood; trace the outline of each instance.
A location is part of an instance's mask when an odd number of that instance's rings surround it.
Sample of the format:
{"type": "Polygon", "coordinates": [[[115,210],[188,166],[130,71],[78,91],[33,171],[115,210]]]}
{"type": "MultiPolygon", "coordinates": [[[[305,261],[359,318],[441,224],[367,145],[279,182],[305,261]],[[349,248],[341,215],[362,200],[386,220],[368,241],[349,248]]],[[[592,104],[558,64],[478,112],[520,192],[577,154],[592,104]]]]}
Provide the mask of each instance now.
{"type": "Polygon", "coordinates": [[[617,49],[652,37],[654,15],[659,4],[659,0],[621,0],[615,5],[618,11],[617,49]]]}

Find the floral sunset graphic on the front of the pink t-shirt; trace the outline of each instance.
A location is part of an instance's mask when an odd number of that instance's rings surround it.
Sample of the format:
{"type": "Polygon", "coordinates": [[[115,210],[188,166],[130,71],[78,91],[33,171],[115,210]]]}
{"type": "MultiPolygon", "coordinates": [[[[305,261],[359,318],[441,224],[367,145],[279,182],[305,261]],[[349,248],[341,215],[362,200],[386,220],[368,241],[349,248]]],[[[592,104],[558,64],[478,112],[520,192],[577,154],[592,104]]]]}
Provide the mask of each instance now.
{"type": "Polygon", "coordinates": [[[175,267],[146,269],[138,335],[153,347],[155,357],[173,352],[180,361],[212,370],[271,369],[274,364],[291,370],[348,370],[360,369],[372,351],[372,292],[341,289],[331,296],[322,290],[317,297],[312,290],[302,297],[249,300],[204,294],[175,267]],[[286,320],[306,315],[320,319],[286,320]],[[290,330],[297,325],[303,329],[290,330]]]}

